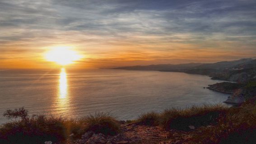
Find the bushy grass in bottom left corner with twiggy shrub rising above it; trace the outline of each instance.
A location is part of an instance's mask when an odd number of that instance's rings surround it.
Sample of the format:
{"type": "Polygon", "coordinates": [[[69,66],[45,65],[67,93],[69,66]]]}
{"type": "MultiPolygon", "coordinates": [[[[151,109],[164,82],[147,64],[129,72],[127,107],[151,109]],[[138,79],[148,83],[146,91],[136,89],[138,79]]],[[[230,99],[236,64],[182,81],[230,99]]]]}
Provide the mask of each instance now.
{"type": "Polygon", "coordinates": [[[33,115],[23,107],[7,110],[7,118],[21,119],[0,126],[0,144],[44,144],[65,141],[69,132],[73,131],[75,122],[62,116],[33,115]],[[67,125],[72,125],[68,127],[67,125]]]}

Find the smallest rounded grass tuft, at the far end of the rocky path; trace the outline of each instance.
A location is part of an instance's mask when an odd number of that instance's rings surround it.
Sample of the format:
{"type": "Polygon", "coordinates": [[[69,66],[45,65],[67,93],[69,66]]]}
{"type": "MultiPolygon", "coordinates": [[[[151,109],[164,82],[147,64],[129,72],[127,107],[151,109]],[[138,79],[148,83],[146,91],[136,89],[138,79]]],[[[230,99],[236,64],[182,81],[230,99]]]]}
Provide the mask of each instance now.
{"type": "Polygon", "coordinates": [[[158,125],[158,121],[159,114],[154,111],[141,114],[137,119],[139,125],[158,125]]]}

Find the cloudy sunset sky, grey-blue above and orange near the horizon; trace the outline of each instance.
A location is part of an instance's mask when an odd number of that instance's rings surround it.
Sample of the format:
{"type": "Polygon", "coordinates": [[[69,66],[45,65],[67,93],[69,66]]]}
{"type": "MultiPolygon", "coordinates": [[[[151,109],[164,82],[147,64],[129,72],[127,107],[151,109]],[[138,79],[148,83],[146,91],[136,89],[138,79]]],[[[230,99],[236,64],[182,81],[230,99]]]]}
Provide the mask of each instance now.
{"type": "Polygon", "coordinates": [[[0,0],[0,69],[73,68],[256,58],[256,0],[0,0]]]}

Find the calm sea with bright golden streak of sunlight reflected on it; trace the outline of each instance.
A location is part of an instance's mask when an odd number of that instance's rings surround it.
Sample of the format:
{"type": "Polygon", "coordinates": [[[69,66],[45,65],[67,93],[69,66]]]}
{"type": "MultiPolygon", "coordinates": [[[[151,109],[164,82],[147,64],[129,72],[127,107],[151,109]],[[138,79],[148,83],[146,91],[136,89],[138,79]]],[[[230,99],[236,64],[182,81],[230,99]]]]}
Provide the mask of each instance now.
{"type": "Polygon", "coordinates": [[[207,88],[222,82],[208,76],[128,70],[1,70],[0,123],[10,108],[25,107],[30,114],[86,116],[111,112],[119,120],[135,119],[147,111],[221,103],[227,94],[207,88]]]}

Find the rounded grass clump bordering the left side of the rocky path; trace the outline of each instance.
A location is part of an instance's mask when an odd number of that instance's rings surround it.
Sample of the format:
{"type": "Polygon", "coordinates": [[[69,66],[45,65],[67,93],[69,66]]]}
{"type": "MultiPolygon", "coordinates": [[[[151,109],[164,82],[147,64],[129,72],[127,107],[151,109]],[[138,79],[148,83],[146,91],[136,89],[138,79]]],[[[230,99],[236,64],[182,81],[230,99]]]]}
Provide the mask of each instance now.
{"type": "Polygon", "coordinates": [[[95,112],[84,118],[85,130],[102,133],[104,135],[116,135],[120,132],[120,124],[110,113],[95,112]]]}

